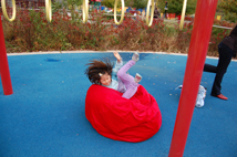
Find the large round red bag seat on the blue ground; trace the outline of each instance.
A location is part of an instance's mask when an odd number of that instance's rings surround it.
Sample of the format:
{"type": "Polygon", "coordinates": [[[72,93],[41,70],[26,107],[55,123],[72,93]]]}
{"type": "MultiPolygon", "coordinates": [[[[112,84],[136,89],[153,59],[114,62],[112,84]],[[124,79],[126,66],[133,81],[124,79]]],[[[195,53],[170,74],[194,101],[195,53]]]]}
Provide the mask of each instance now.
{"type": "Polygon", "coordinates": [[[85,116],[99,134],[132,143],[151,138],[162,125],[158,104],[142,85],[126,100],[115,90],[93,84],[85,97],[85,116]]]}

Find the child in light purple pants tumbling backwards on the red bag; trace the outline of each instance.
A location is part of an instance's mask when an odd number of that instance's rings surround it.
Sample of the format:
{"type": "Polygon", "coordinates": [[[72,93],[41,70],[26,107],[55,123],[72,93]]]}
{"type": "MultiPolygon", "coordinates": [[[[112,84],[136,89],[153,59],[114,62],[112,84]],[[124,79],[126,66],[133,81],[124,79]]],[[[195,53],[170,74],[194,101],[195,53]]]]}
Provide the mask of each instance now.
{"type": "Polygon", "coordinates": [[[142,76],[136,73],[135,78],[126,72],[140,60],[140,54],[135,52],[125,65],[117,52],[114,52],[114,56],[117,59],[115,67],[106,60],[105,62],[93,60],[86,65],[85,74],[93,84],[100,84],[123,93],[122,97],[130,100],[137,91],[138,82],[142,76]],[[112,80],[112,69],[117,75],[117,81],[112,80]]]}

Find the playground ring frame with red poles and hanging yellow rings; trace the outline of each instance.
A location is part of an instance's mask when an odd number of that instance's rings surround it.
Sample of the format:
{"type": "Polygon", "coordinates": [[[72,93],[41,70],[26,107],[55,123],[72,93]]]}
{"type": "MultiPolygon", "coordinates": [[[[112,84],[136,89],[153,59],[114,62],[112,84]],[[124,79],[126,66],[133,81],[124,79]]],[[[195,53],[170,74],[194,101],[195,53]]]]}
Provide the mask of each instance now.
{"type": "MultiPolygon", "coordinates": [[[[12,0],[13,1],[13,0],[12,0]]],[[[123,1],[123,0],[122,0],[123,1]]],[[[183,156],[185,144],[192,122],[193,112],[195,108],[196,96],[203,74],[203,67],[208,49],[210,32],[213,28],[214,17],[216,12],[218,0],[198,0],[195,13],[194,29],[188,50],[188,59],[186,64],[186,71],[184,76],[183,90],[179,98],[176,122],[174,126],[174,133],[169,149],[169,157],[183,156]],[[200,35],[202,34],[202,35],[200,35]],[[186,98],[189,97],[189,98],[186,98]]],[[[116,8],[117,0],[115,1],[116,8]]],[[[151,3],[151,0],[148,1],[151,3]]],[[[83,21],[86,22],[87,18],[87,1],[83,1],[83,21]]],[[[154,0],[152,1],[154,7],[154,0]]],[[[148,6],[148,4],[147,4],[148,6]]],[[[3,7],[3,4],[2,4],[3,7]]],[[[51,1],[45,1],[47,20],[51,21],[51,1]]],[[[122,7],[123,10],[124,7],[122,7]]],[[[16,9],[16,8],[14,8],[16,9]]],[[[152,8],[153,10],[153,8],[152,8]]],[[[4,11],[3,11],[4,12],[4,11]]],[[[116,12],[116,11],[115,11],[116,12]]],[[[114,17],[116,13],[114,12],[114,17]]],[[[154,11],[152,11],[154,12],[154,11]]],[[[12,17],[13,18],[13,17],[12,17]]],[[[115,20],[115,18],[114,18],[115,20]]],[[[10,21],[10,19],[9,19],[10,21]]],[[[148,15],[146,15],[146,22],[148,15]]],[[[121,21],[116,24],[122,23],[121,21]]],[[[152,20],[148,24],[152,23],[152,20]]],[[[4,46],[4,36],[2,30],[2,23],[0,22],[0,74],[3,86],[4,95],[13,94],[10,71],[8,65],[7,52],[4,46]]]]}

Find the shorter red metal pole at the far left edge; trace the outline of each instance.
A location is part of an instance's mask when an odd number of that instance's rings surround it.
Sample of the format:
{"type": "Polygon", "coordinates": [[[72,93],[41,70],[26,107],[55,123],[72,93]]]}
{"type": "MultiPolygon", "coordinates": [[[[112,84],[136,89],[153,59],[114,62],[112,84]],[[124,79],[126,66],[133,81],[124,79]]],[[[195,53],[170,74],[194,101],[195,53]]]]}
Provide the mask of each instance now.
{"type": "Polygon", "coordinates": [[[13,94],[1,19],[0,19],[0,75],[4,95],[13,94]]]}

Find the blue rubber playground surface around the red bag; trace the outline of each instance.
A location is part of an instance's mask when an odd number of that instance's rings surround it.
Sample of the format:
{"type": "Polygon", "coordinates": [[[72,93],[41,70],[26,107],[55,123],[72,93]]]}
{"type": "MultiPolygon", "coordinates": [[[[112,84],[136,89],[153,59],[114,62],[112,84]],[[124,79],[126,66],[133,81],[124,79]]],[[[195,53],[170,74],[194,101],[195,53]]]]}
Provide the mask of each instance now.
{"type": "MultiPolygon", "coordinates": [[[[121,53],[126,62],[132,53],[121,53]]],[[[159,132],[142,143],[109,139],[85,118],[85,95],[91,83],[84,75],[89,60],[113,53],[53,53],[9,55],[13,94],[3,95],[0,84],[1,157],[167,157],[183,84],[186,55],[141,53],[130,70],[156,98],[163,123],[159,132]]],[[[217,64],[216,59],[206,63],[217,64]]],[[[203,73],[205,105],[195,107],[184,157],[237,156],[237,62],[223,80],[223,94],[210,96],[215,74],[203,73]]]]}

